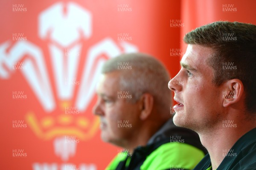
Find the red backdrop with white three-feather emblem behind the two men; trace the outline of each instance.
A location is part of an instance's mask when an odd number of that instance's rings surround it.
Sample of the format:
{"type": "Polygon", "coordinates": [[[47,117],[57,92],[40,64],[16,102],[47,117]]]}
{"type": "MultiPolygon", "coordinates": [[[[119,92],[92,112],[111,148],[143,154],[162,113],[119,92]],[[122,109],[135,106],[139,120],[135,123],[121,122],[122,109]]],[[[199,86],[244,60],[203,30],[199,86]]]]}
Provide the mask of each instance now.
{"type": "Polygon", "coordinates": [[[0,1],[0,169],[104,169],[118,148],[101,141],[91,111],[102,63],[122,52],[146,52],[174,76],[186,32],[216,20],[256,24],[255,5],[253,0],[0,1]]]}

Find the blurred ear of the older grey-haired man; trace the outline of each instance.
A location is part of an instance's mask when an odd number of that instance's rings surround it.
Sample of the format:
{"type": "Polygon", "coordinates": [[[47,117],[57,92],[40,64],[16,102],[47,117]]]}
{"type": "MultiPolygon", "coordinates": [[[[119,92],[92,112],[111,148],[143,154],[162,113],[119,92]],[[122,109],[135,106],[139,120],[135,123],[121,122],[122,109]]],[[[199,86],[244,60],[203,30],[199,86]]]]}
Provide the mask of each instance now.
{"type": "Polygon", "coordinates": [[[144,93],[140,97],[140,119],[145,120],[151,114],[154,98],[149,93],[144,93]]]}

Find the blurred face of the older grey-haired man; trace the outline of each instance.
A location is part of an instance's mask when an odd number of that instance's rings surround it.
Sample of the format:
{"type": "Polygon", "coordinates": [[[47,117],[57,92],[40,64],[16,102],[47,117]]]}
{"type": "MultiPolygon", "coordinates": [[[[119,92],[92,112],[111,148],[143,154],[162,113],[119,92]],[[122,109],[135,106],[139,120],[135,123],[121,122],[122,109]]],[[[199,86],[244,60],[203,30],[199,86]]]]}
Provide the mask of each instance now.
{"type": "Polygon", "coordinates": [[[102,140],[122,146],[131,139],[139,125],[140,110],[137,103],[129,102],[127,100],[131,99],[122,98],[120,95],[123,91],[119,88],[119,74],[110,72],[101,75],[96,87],[98,101],[93,112],[100,117],[102,140]]]}

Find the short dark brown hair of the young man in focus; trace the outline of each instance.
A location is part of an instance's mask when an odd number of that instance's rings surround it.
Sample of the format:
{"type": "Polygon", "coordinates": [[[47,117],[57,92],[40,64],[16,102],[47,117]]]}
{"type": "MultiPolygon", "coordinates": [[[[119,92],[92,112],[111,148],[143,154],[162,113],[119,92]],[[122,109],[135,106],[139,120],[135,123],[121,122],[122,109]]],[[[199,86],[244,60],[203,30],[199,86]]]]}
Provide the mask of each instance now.
{"type": "Polygon", "coordinates": [[[187,44],[210,47],[214,54],[207,60],[213,68],[213,83],[238,78],[244,85],[248,112],[256,112],[256,26],[253,24],[217,21],[196,28],[184,37],[187,44]],[[226,67],[226,64],[233,67],[226,67]],[[225,69],[229,68],[229,69],[225,69]]]}

